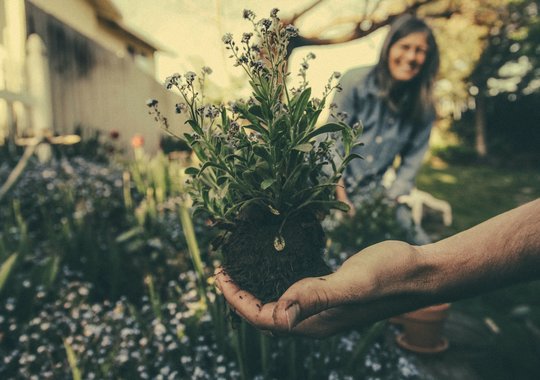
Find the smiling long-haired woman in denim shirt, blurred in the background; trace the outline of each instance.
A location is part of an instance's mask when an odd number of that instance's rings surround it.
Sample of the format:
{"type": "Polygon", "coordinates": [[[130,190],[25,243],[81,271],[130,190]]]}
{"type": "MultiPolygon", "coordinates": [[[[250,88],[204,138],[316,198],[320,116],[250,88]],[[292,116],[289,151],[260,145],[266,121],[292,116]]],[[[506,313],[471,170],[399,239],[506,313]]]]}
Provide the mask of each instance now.
{"type": "MultiPolygon", "coordinates": [[[[353,160],[344,174],[337,189],[339,200],[353,206],[381,189],[383,176],[397,156],[400,165],[386,194],[397,201],[411,191],[435,120],[432,95],[438,68],[433,32],[424,21],[404,15],[392,24],[377,65],[355,68],[343,76],[343,91],[336,93],[334,103],[347,115],[349,125],[362,123],[365,145],[357,151],[364,160],[353,160]]],[[[398,206],[397,219],[411,229],[406,206],[398,206]]],[[[412,243],[429,241],[420,226],[413,235],[412,243]]]]}

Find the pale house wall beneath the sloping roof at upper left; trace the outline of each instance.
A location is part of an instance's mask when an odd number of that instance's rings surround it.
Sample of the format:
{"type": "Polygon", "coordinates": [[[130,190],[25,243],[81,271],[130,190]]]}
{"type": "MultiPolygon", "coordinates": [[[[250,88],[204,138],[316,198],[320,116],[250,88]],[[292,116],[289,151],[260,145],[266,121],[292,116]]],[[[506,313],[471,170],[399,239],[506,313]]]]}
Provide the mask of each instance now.
{"type": "Polygon", "coordinates": [[[177,97],[131,57],[119,57],[34,3],[27,4],[27,33],[39,35],[47,49],[53,130],[73,133],[83,127],[104,136],[114,130],[124,145],[141,134],[147,149],[155,151],[162,133],[147,113],[146,100],[158,99],[164,115],[174,120],[177,97]]]}

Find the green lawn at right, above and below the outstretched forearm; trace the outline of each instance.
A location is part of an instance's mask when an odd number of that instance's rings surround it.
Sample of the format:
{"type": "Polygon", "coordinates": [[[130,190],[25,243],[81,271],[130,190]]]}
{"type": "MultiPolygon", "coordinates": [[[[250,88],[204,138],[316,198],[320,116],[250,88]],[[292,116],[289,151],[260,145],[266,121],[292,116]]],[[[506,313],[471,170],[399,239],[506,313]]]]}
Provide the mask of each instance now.
{"type": "MultiPolygon", "coordinates": [[[[450,202],[454,222],[447,236],[540,197],[540,170],[426,164],[418,188],[450,202]]],[[[426,226],[429,229],[429,226],[426,226]]],[[[474,365],[486,379],[540,379],[540,281],[516,285],[454,303],[454,310],[490,319],[489,358],[474,365]]]]}

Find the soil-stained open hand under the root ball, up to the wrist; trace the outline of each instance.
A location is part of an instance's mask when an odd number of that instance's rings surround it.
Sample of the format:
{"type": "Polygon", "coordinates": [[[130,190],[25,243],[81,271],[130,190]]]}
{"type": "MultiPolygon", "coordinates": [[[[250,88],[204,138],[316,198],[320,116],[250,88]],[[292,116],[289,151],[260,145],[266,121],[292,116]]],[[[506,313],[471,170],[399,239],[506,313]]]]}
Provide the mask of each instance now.
{"type": "Polygon", "coordinates": [[[392,300],[391,292],[401,291],[398,273],[407,273],[416,255],[417,249],[406,243],[379,243],[349,258],[335,273],[300,280],[278,301],[264,305],[222,269],[216,271],[216,283],[231,308],[257,328],[323,338],[414,308],[409,298],[392,300]]]}

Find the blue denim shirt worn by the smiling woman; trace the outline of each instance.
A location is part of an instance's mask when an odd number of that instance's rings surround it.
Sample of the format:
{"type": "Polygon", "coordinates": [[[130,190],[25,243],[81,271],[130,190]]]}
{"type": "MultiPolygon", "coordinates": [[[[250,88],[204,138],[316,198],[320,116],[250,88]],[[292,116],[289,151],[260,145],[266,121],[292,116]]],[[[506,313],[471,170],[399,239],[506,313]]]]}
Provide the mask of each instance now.
{"type": "Polygon", "coordinates": [[[371,67],[358,67],[345,73],[341,79],[343,91],[334,95],[337,111],[348,115],[346,122],[349,125],[360,122],[364,126],[360,136],[364,146],[353,150],[364,159],[349,163],[344,179],[349,194],[379,187],[384,173],[399,155],[401,164],[396,170],[396,179],[387,190],[388,197],[395,199],[414,187],[428,149],[434,117],[415,125],[390,110],[378,96],[371,70],[371,67]]]}

